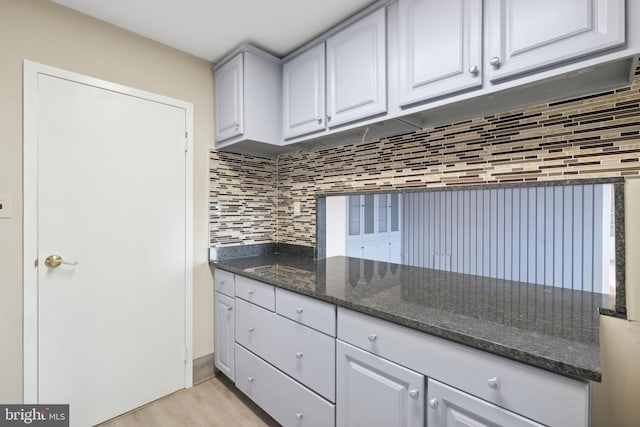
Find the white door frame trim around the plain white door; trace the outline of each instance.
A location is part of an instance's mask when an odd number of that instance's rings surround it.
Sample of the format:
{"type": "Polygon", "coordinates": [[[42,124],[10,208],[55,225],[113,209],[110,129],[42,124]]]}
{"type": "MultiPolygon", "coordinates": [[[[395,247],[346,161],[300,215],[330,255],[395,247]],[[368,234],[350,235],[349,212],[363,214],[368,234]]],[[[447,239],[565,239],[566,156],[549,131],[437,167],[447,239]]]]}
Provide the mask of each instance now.
{"type": "Polygon", "coordinates": [[[23,402],[38,403],[38,75],[185,111],[185,388],[193,385],[193,104],[37,62],[23,62],[23,402]]]}

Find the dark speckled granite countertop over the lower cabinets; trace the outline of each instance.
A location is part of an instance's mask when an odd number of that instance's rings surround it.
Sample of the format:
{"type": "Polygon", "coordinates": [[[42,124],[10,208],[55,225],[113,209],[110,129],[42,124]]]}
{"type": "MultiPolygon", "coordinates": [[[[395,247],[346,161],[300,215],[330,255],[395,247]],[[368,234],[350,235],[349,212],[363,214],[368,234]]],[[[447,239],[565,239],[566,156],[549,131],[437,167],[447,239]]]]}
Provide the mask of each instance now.
{"type": "Polygon", "coordinates": [[[420,267],[268,254],[216,268],[561,375],[601,380],[599,307],[607,295],[420,267]]]}

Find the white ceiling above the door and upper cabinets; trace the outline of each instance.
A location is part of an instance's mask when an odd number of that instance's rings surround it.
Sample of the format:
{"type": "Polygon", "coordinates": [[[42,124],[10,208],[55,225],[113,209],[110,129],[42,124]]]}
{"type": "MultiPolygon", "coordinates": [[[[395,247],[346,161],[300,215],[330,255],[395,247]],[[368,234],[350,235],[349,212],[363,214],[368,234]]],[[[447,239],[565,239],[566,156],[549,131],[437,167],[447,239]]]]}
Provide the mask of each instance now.
{"type": "Polygon", "coordinates": [[[375,0],[53,0],[215,62],[242,42],[284,56],[375,0]]]}

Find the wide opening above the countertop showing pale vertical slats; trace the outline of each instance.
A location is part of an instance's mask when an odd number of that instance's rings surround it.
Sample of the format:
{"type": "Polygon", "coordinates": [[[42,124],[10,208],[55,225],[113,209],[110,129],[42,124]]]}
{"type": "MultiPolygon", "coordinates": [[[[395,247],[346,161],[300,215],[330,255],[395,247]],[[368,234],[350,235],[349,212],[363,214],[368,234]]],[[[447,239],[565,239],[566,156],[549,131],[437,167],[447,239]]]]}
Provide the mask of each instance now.
{"type": "Polygon", "coordinates": [[[613,184],[326,197],[326,256],[615,294],[613,184]]]}

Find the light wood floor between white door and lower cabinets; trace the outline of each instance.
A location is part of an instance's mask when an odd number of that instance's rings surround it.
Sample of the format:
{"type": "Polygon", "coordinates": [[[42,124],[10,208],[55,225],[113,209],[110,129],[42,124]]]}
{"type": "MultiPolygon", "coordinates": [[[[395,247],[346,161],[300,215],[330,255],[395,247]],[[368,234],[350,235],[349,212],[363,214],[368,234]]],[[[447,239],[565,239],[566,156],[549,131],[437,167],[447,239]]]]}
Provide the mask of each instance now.
{"type": "Polygon", "coordinates": [[[276,427],[223,375],[109,420],[99,427],[276,427]]]}

